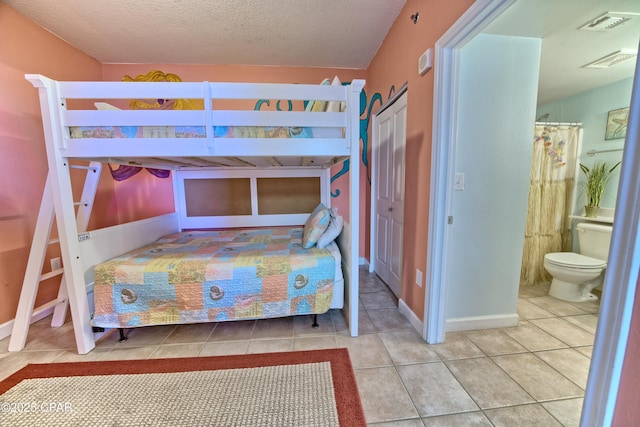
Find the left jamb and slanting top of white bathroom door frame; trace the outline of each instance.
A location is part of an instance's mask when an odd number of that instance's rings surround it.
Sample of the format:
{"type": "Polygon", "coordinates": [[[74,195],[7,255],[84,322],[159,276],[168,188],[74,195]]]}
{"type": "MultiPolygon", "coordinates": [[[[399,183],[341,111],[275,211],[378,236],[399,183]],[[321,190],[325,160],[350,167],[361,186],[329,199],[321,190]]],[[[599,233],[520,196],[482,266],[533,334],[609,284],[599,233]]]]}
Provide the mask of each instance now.
{"type": "Polygon", "coordinates": [[[433,131],[422,338],[444,342],[445,272],[453,209],[460,49],[516,0],[476,0],[435,46],[433,131]]]}

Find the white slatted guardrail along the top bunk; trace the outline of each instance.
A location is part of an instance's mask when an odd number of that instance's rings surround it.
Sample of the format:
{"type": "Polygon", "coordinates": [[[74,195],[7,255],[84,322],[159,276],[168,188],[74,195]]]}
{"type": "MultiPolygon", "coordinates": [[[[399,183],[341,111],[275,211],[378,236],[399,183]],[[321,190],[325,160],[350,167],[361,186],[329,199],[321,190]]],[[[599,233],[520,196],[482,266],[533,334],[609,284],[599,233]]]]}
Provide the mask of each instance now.
{"type": "Polygon", "coordinates": [[[282,99],[283,96],[293,101],[346,103],[349,90],[359,92],[364,86],[363,80],[354,80],[351,83],[353,87],[350,87],[277,83],[62,82],[41,75],[27,75],[26,78],[35,87],[45,88],[58,100],[52,113],[59,115],[59,123],[67,128],[65,132],[56,132],[65,135],[57,141],[58,149],[65,157],[73,158],[144,157],[148,156],[150,150],[158,157],[330,154],[334,159],[347,158],[351,149],[351,139],[348,138],[351,129],[348,115],[344,112],[255,111],[238,109],[238,103],[245,101],[251,104],[249,101],[255,103],[264,99],[282,99]],[[131,99],[189,99],[201,109],[96,110],[93,103],[87,102],[131,99]],[[73,108],[69,108],[71,104],[73,108]],[[228,105],[233,109],[227,108],[228,105]],[[97,143],[104,142],[106,138],[74,138],[69,131],[73,128],[104,126],[182,127],[190,128],[192,132],[183,137],[111,137],[108,143],[97,143]],[[322,132],[316,132],[320,136],[303,132],[295,140],[235,137],[230,142],[230,138],[219,136],[222,127],[282,127],[318,129],[322,132]]]}

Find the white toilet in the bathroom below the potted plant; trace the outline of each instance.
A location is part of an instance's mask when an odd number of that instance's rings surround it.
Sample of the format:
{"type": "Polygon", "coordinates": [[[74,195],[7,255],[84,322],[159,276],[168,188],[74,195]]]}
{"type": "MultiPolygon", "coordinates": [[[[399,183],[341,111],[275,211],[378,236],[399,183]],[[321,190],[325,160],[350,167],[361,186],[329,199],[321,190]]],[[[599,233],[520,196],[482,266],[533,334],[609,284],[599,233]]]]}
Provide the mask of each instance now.
{"type": "Polygon", "coordinates": [[[612,228],[581,222],[576,225],[580,253],[552,252],[544,256],[544,268],[553,276],[549,295],[574,302],[598,299],[591,291],[602,284],[612,228]]]}

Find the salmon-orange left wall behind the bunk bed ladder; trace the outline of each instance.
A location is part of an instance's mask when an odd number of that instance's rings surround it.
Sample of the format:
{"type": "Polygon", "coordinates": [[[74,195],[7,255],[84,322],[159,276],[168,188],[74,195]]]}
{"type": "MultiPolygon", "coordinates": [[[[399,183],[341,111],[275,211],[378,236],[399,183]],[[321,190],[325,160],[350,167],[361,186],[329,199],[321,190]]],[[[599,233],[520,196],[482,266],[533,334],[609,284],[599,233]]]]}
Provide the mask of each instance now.
{"type": "MultiPolygon", "coordinates": [[[[0,326],[15,317],[47,174],[38,91],[25,73],[100,79],[100,63],[0,3],[0,326]]],[[[52,245],[48,253],[56,255],[52,245]]],[[[49,271],[48,262],[45,270],[49,271]]],[[[36,304],[57,294],[43,282],[36,304]]]]}

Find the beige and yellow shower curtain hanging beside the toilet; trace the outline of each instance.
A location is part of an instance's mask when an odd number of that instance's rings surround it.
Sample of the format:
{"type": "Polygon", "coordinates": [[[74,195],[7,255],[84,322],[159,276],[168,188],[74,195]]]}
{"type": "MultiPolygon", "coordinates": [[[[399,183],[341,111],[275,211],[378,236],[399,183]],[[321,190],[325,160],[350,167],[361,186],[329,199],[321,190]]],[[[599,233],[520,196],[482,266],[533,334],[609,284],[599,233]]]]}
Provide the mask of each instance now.
{"type": "Polygon", "coordinates": [[[581,136],[578,126],[536,124],[520,285],[549,283],[545,254],[571,251],[569,215],[581,136]]]}

